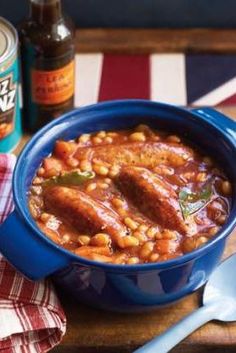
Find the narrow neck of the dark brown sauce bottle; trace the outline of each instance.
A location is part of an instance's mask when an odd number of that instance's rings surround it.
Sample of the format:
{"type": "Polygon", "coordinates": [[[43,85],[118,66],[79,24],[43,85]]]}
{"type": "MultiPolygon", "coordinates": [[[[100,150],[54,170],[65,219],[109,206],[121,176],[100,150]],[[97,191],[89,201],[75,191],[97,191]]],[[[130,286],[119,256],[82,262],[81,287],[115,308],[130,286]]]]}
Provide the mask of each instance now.
{"type": "Polygon", "coordinates": [[[53,24],[62,18],[61,0],[31,0],[30,17],[40,24],[53,24]]]}

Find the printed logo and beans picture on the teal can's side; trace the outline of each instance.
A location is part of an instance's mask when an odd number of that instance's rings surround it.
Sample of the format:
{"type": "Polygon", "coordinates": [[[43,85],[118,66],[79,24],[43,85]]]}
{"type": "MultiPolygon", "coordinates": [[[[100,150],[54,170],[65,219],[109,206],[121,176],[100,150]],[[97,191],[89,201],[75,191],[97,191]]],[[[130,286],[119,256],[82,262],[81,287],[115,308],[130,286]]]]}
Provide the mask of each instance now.
{"type": "Polygon", "coordinates": [[[14,129],[16,90],[13,73],[0,77],[0,139],[8,136],[14,129]]]}

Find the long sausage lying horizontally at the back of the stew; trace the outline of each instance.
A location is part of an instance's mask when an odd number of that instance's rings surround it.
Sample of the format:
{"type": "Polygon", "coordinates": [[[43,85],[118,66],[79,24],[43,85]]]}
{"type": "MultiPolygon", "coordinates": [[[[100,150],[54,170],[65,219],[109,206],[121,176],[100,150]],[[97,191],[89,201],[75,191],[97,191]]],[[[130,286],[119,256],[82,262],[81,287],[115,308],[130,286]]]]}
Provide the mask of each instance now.
{"type": "Polygon", "coordinates": [[[193,151],[184,146],[161,142],[136,142],[121,145],[79,147],[75,157],[96,158],[111,165],[136,165],[153,168],[158,164],[183,165],[193,157],[193,151]]]}

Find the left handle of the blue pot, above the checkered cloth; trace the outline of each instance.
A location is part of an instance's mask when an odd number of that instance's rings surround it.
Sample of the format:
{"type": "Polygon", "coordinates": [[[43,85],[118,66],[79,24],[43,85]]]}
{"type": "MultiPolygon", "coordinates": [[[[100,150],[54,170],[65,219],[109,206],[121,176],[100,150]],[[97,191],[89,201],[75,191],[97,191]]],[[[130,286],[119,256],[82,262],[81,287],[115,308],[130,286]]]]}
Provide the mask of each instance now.
{"type": "Polygon", "coordinates": [[[0,226],[0,251],[26,277],[42,279],[69,265],[69,256],[34,234],[16,211],[0,226]]]}

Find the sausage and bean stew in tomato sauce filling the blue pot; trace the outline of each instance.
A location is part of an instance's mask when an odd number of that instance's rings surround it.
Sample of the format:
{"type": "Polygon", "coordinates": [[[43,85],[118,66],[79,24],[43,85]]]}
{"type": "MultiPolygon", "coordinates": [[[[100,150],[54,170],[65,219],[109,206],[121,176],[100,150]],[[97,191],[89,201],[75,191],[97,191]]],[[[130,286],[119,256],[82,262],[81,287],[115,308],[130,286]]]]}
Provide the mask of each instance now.
{"type": "Polygon", "coordinates": [[[180,136],[138,125],[57,140],[32,181],[38,227],[81,257],[156,263],[203,246],[227,221],[232,187],[180,136]]]}

